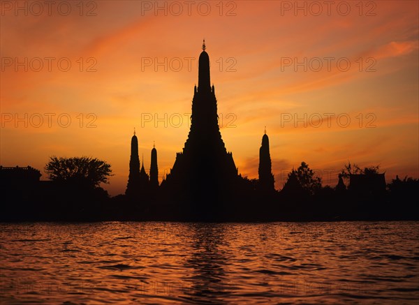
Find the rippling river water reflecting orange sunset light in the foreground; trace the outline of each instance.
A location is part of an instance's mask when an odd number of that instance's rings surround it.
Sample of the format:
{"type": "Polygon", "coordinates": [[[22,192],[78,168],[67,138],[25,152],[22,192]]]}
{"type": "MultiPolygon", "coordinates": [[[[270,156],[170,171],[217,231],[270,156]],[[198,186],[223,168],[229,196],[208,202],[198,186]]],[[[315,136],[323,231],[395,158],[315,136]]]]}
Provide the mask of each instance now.
{"type": "Polygon", "coordinates": [[[3,304],[418,304],[419,223],[0,224],[3,304]]]}

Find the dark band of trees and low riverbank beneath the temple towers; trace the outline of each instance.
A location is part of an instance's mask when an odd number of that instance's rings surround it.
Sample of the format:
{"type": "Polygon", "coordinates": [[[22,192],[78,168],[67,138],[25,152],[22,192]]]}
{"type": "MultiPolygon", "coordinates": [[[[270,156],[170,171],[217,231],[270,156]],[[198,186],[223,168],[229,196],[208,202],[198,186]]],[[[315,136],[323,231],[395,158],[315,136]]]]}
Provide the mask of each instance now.
{"type": "Polygon", "coordinates": [[[50,181],[2,176],[0,221],[419,220],[419,180],[396,177],[383,188],[375,187],[378,166],[362,169],[348,163],[337,186],[330,187],[322,186],[321,178],[302,162],[288,174],[281,191],[260,187],[257,179],[237,177],[228,192],[207,188],[195,197],[175,197],[159,187],[135,198],[111,198],[100,185],[108,183],[112,170],[96,158],[52,157],[45,172],[50,181]],[[361,184],[372,181],[372,187],[351,187],[351,179],[360,177],[361,184]]]}

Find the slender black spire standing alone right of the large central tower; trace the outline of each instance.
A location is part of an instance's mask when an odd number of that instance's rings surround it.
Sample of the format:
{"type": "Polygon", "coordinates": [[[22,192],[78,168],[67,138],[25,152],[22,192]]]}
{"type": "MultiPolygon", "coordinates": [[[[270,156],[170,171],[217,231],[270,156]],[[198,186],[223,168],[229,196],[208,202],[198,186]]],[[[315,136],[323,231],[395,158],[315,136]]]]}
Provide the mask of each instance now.
{"type": "Polygon", "coordinates": [[[262,145],[259,149],[259,184],[258,188],[263,192],[272,192],[275,190],[274,175],[272,174],[272,162],[270,158],[269,137],[265,134],[262,137],[262,145]]]}

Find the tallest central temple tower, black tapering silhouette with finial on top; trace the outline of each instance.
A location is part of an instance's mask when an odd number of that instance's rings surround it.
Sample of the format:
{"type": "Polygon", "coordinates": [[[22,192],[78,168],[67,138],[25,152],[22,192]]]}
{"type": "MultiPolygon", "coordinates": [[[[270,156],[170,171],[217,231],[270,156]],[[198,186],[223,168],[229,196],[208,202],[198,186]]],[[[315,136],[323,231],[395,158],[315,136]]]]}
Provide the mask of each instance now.
{"type": "Polygon", "coordinates": [[[215,89],[210,83],[210,57],[205,49],[204,40],[199,57],[198,87],[193,89],[189,135],[161,185],[170,198],[193,202],[203,213],[211,209],[205,204],[226,201],[239,179],[233,155],[226,150],[221,138],[215,89]]]}

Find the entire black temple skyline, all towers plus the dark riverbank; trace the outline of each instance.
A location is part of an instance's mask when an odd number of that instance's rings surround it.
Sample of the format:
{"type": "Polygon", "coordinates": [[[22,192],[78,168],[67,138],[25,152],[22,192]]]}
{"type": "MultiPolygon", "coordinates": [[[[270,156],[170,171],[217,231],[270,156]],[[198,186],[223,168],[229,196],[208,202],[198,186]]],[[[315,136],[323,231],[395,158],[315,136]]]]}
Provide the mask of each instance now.
{"type": "MultiPolygon", "coordinates": [[[[134,129],[125,195],[111,198],[99,185],[86,184],[83,179],[42,181],[41,172],[30,166],[0,166],[0,221],[419,219],[417,200],[411,200],[418,196],[419,179],[396,177],[386,184],[385,173],[378,173],[378,167],[357,168],[355,172],[346,167],[348,172],[342,170],[337,186],[332,188],[323,187],[318,177],[313,179],[313,170],[302,162],[277,191],[266,128],[259,149],[258,179],[242,177],[221,137],[205,40],[198,65],[190,131],[160,185],[156,146],[153,144],[147,174],[144,157],[140,162],[134,129]]],[[[80,172],[76,174],[84,177],[80,172]]]]}

